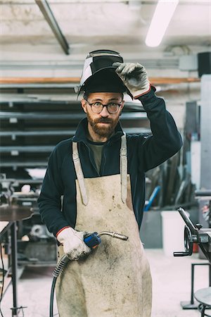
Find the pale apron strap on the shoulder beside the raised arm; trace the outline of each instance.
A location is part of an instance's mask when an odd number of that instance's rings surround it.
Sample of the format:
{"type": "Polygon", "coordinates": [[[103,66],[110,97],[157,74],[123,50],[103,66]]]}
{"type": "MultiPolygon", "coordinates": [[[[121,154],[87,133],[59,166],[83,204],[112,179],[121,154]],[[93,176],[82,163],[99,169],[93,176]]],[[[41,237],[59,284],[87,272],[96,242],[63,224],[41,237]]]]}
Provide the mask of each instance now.
{"type": "Polygon", "coordinates": [[[120,175],[121,175],[121,196],[125,204],[127,199],[127,139],[124,132],[121,139],[120,149],[120,175]]]}

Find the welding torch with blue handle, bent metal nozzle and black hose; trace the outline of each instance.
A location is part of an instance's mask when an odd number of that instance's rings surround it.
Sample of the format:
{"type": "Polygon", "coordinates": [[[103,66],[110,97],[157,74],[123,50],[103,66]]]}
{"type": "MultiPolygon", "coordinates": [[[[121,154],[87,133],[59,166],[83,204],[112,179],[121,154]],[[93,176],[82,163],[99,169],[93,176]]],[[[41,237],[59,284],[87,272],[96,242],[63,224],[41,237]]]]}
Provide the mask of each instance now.
{"type": "MultiPolygon", "coordinates": [[[[115,237],[120,240],[127,240],[128,237],[126,235],[122,235],[121,233],[117,232],[109,232],[109,231],[102,231],[100,233],[93,232],[91,234],[87,234],[84,236],[84,242],[87,244],[87,246],[94,250],[98,244],[101,243],[101,236],[102,235],[109,235],[110,237],[115,237]]],[[[58,275],[63,272],[65,265],[70,261],[67,254],[64,254],[60,261],[58,262],[56,268],[53,271],[53,282],[51,285],[51,299],[50,299],[50,317],[53,317],[53,295],[56,285],[56,280],[58,278],[58,275]]]]}

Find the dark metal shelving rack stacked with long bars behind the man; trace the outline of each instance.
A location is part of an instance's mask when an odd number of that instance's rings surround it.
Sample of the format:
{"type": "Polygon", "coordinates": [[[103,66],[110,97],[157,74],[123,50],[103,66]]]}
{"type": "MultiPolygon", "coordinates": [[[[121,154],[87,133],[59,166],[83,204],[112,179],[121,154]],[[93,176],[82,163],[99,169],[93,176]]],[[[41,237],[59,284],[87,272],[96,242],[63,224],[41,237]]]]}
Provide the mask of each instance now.
{"type": "MultiPolygon", "coordinates": [[[[46,167],[56,144],[72,137],[85,116],[72,84],[0,85],[0,93],[1,169],[7,173],[46,167]]],[[[132,102],[125,103],[121,122],[125,132],[151,132],[143,107],[132,102]]]]}

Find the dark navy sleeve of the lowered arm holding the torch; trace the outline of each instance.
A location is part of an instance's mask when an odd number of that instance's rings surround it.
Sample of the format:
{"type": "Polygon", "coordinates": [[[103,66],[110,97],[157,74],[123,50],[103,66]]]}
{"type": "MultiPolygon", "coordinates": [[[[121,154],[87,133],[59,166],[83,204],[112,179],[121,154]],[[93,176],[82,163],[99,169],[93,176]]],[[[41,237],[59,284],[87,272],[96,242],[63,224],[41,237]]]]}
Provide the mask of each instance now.
{"type": "Polygon", "coordinates": [[[61,196],[63,194],[63,182],[60,177],[61,164],[58,147],[56,147],[49,158],[48,168],[37,201],[41,220],[55,236],[60,229],[69,226],[61,211],[61,196]]]}

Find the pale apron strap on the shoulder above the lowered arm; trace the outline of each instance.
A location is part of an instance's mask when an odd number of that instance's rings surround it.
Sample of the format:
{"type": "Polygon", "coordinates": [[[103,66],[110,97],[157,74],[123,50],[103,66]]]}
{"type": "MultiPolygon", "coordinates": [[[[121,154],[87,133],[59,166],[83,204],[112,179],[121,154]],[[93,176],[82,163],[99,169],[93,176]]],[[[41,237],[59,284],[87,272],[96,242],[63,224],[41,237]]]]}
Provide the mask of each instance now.
{"type": "Polygon", "coordinates": [[[77,149],[77,143],[72,142],[72,160],[75,166],[75,172],[77,175],[77,180],[79,182],[79,188],[82,195],[82,201],[85,206],[88,204],[88,197],[87,197],[87,190],[85,187],[84,182],[84,174],[82,171],[82,165],[79,159],[78,149],[77,149]]]}

